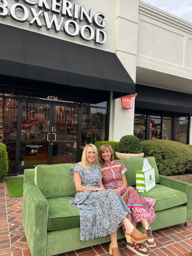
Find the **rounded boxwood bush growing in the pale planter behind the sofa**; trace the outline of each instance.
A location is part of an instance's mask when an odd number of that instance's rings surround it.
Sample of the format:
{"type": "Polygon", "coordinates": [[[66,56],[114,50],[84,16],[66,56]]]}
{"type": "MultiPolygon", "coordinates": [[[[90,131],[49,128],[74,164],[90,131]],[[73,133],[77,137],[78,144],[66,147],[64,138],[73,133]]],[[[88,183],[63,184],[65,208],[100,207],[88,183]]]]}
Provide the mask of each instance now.
{"type": "Polygon", "coordinates": [[[125,135],[123,136],[117,147],[119,153],[130,153],[130,154],[140,154],[142,153],[141,141],[135,137],[135,135],[125,135]]]}

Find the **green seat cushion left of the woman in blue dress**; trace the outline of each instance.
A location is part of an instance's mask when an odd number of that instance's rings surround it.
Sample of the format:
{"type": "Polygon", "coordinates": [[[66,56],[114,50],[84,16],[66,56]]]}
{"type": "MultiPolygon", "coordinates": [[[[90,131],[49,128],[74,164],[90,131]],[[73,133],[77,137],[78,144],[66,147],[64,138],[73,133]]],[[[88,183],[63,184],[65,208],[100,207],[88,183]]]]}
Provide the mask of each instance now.
{"type": "Polygon", "coordinates": [[[71,198],[73,197],[47,199],[49,205],[47,229],[49,231],[79,227],[79,211],[77,207],[69,204],[71,198]]]}

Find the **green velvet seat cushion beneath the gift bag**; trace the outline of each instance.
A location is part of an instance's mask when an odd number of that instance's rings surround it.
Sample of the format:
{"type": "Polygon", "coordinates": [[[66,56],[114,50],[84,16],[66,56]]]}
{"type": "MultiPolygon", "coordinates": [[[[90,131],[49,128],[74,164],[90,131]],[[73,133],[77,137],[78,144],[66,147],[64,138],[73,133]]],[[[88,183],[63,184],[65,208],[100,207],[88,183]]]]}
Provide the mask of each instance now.
{"type": "Polygon", "coordinates": [[[156,184],[156,187],[148,193],[139,193],[139,195],[156,199],[153,207],[155,212],[187,203],[186,193],[160,184],[156,184]]]}

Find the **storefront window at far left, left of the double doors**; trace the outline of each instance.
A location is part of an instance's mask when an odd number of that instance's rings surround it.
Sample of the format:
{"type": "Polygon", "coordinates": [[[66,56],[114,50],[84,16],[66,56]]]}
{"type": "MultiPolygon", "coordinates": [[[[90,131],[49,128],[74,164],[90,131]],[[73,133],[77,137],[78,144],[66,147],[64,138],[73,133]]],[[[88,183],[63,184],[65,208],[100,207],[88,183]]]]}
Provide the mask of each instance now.
{"type": "Polygon", "coordinates": [[[8,153],[8,174],[14,173],[17,137],[18,101],[0,98],[0,142],[6,145],[8,153]]]}

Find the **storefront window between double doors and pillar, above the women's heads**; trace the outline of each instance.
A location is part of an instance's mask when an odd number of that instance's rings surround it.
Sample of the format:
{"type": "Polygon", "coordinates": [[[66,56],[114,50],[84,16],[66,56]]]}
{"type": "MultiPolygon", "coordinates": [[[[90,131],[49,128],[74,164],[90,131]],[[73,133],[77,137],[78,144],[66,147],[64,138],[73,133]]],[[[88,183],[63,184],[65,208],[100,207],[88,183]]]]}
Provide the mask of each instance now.
{"type": "Polygon", "coordinates": [[[83,107],[81,147],[88,143],[105,140],[107,109],[83,107]]]}

